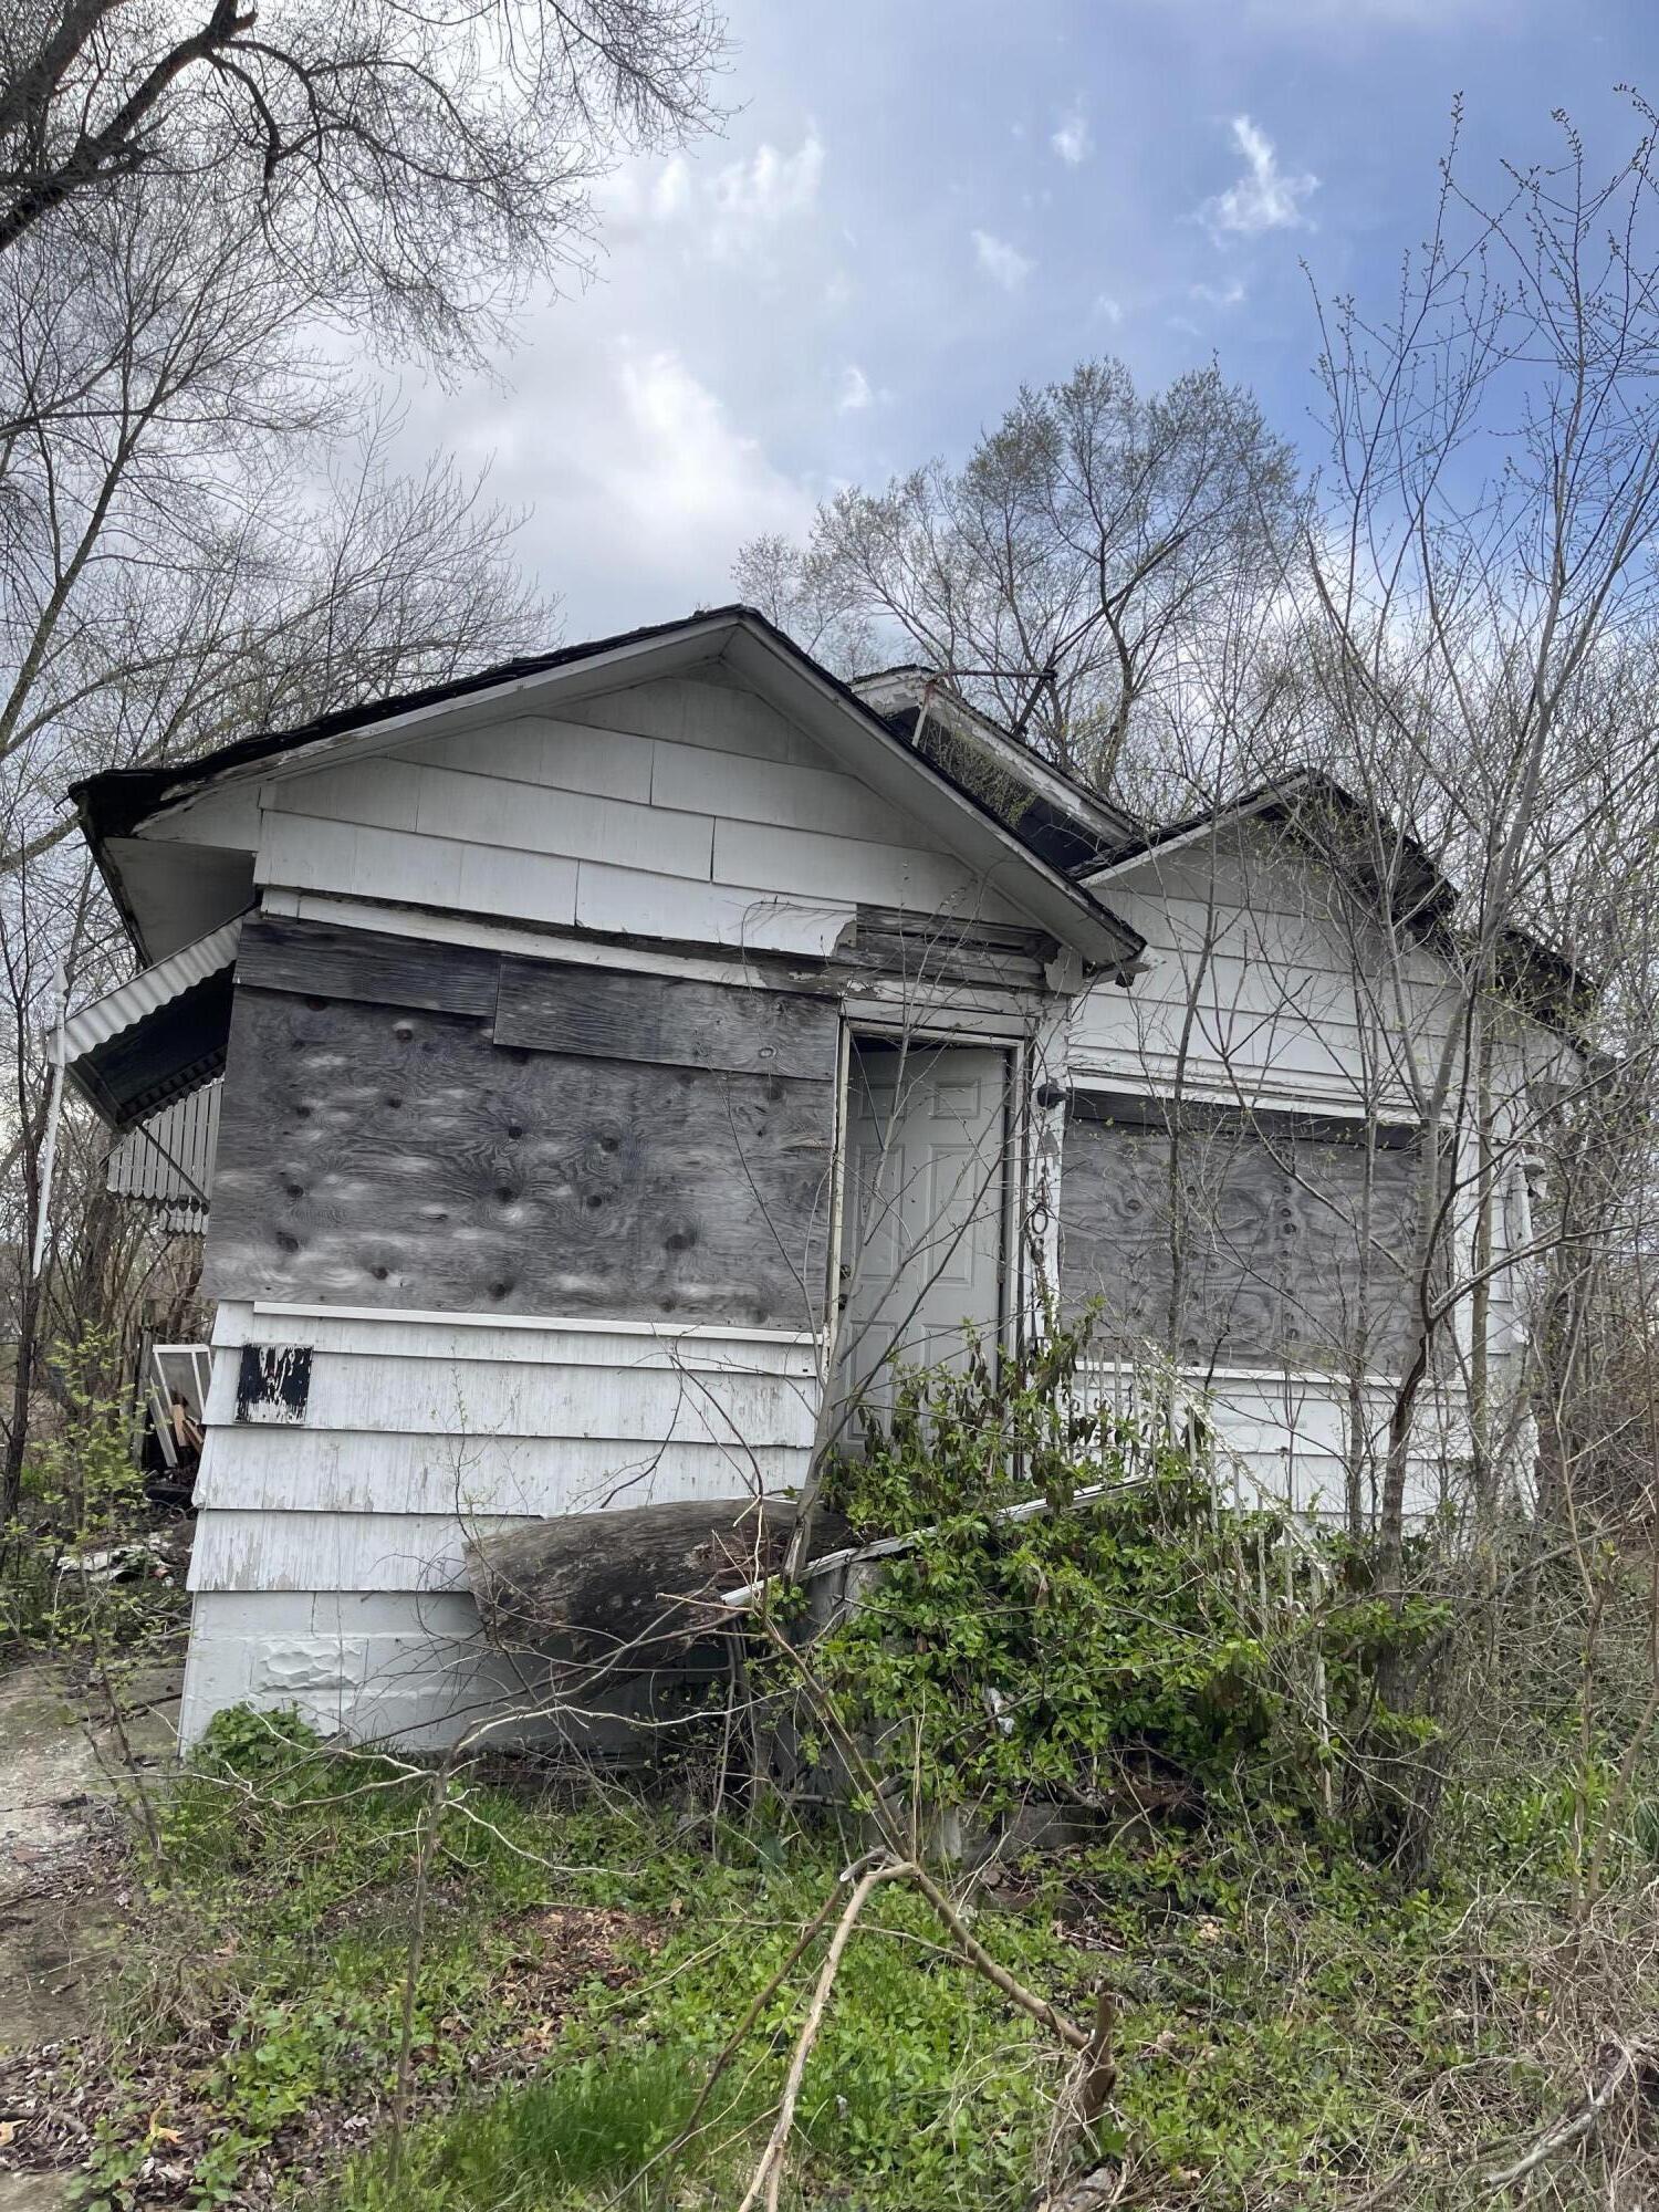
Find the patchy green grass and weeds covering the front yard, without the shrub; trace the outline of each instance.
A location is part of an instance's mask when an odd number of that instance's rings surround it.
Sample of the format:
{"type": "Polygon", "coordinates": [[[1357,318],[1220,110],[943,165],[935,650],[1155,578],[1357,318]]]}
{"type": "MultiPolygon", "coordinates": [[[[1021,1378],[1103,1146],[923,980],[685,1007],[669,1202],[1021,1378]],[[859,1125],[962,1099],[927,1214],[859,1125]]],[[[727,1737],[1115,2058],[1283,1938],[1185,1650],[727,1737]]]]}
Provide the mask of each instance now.
{"type": "MultiPolygon", "coordinates": [[[[254,1721],[232,1721],[226,1752],[219,1781],[170,1803],[111,2039],[80,2062],[104,2115],[93,2201],[228,2203],[270,2174],[316,2212],[730,2212],[818,1951],[695,2141],[661,2152],[834,1887],[830,1838],[723,1827],[714,1851],[708,1823],[622,1798],[453,1785],[394,2157],[427,1785],[385,1787],[254,1721]],[[155,2161],[175,2174],[161,2197],[155,2161]]],[[[1568,1971],[1568,1812],[1537,1774],[1460,1798],[1447,1871],[1411,1891],[1294,1820],[1139,1836],[1009,1869],[975,1931],[1077,2015],[1102,1978],[1121,1993],[1104,2148],[1135,2203],[1338,2208],[1394,2168],[1416,2177],[1400,2203],[1502,2203],[1475,2183],[1482,2146],[1548,2126],[1610,2022],[1659,2008],[1648,1949],[1621,1933],[1626,1900],[1628,1929],[1646,1924],[1639,1869],[1568,1971]]],[[[785,2201],[1024,2205],[1055,2081],[1051,2044],[951,1955],[925,1900],[883,1889],[807,2068],[785,2201]]],[[[1566,2179],[1535,2201],[1597,2201],[1566,2179]]]]}

